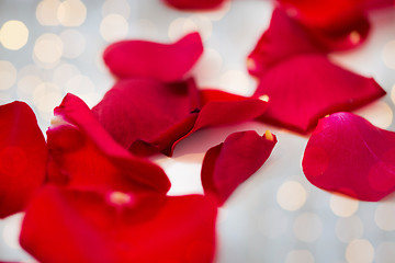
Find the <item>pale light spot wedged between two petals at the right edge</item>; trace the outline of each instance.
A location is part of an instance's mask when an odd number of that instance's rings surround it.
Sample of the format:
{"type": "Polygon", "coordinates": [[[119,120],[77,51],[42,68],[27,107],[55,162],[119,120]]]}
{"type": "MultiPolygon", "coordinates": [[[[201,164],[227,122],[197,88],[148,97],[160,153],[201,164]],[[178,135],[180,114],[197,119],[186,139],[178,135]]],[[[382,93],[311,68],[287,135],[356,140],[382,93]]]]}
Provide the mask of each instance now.
{"type": "Polygon", "coordinates": [[[374,102],[354,113],[383,129],[388,128],[393,122],[393,111],[388,104],[383,101],[374,102]]]}

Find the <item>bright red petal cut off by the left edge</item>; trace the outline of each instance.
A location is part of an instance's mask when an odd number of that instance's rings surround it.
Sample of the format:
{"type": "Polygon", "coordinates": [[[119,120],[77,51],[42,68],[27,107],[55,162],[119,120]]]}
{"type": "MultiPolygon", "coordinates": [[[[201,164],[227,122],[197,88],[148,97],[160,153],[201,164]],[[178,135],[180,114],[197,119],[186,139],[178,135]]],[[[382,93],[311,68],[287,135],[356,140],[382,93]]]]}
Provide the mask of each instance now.
{"type": "Polygon", "coordinates": [[[47,148],[30,106],[0,106],[0,218],[21,211],[43,184],[47,148]]]}

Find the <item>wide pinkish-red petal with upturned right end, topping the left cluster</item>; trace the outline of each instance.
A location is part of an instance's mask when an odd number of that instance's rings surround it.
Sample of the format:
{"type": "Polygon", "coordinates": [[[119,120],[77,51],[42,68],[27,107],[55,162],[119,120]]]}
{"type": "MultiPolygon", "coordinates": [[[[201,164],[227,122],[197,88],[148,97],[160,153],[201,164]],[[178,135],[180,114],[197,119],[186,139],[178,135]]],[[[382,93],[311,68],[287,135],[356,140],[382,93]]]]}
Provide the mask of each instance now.
{"type": "Polygon", "coordinates": [[[165,82],[181,80],[203,53],[199,33],[172,44],[123,41],[110,45],[103,58],[120,78],[149,77],[165,82]]]}

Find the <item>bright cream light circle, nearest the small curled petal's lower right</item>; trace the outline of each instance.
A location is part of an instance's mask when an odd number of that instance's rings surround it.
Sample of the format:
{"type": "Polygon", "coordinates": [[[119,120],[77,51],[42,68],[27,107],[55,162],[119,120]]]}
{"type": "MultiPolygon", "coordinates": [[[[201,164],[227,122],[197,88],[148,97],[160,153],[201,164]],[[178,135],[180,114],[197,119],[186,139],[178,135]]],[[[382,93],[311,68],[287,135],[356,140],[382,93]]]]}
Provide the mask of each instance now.
{"type": "Polygon", "coordinates": [[[280,186],[276,193],[276,201],[285,210],[297,210],[306,202],[306,191],[302,184],[287,181],[280,186]]]}

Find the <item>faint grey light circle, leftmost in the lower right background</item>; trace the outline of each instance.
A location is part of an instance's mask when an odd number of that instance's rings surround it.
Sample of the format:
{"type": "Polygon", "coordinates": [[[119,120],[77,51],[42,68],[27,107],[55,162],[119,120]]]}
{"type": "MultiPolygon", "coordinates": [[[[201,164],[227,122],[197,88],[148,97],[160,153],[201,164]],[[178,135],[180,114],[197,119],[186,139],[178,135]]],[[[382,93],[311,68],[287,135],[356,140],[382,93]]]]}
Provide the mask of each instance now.
{"type": "Polygon", "coordinates": [[[289,219],[280,209],[267,209],[259,217],[258,228],[268,238],[274,239],[282,236],[289,226],[289,219]]]}

